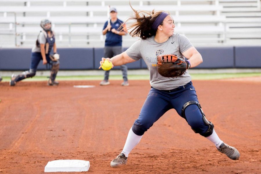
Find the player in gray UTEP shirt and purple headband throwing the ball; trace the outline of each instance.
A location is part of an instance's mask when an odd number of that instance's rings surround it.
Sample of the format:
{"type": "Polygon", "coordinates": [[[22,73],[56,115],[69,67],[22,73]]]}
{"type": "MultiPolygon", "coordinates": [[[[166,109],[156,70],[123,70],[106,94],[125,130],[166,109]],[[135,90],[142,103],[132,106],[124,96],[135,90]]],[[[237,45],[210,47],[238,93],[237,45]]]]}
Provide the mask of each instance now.
{"type": "MultiPolygon", "coordinates": [[[[131,36],[141,39],[125,52],[107,60],[119,66],[143,59],[150,71],[151,90],[128,133],[122,152],[111,161],[110,166],[126,164],[129,153],[139,143],[144,132],[170,109],[175,109],[195,133],[213,142],[218,151],[232,160],[238,160],[238,150],[225,144],[215,132],[213,123],[206,119],[191,76],[186,70],[202,63],[200,53],[184,35],[174,33],[175,24],[169,13],[133,11],[134,15],[127,21],[135,22],[127,28],[134,28],[130,32],[131,36]]],[[[100,64],[104,60],[102,58],[100,64]]]]}

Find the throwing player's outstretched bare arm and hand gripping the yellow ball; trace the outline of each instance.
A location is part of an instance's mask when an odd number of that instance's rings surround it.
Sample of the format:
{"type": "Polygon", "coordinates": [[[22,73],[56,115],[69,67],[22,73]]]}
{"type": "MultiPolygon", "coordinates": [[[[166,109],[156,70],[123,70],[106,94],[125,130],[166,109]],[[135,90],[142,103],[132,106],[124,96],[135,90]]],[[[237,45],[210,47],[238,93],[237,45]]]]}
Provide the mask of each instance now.
{"type": "MultiPolygon", "coordinates": [[[[114,56],[112,58],[104,58],[104,57],[102,57],[102,61],[100,61],[100,65],[102,65],[104,60],[108,60],[109,62],[111,61],[113,66],[120,66],[120,65],[124,65],[124,64],[131,63],[131,62],[135,61],[134,59],[132,59],[131,57],[129,57],[127,55],[126,51],[124,51],[123,53],[121,53],[119,55],[116,55],[116,56],[114,56]]],[[[100,66],[99,69],[101,67],[102,66],[100,66]]]]}

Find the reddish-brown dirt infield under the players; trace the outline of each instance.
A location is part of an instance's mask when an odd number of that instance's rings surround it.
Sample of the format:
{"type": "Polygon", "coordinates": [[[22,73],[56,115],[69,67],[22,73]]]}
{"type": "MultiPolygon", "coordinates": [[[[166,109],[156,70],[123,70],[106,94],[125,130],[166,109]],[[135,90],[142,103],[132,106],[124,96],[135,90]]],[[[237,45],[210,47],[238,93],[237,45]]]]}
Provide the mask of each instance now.
{"type": "Polygon", "coordinates": [[[206,117],[238,161],[195,134],[175,110],[143,136],[128,164],[111,168],[150,90],[149,81],[0,83],[0,173],[44,173],[48,161],[90,161],[86,173],[260,173],[261,81],[193,81],[206,117]],[[95,88],[73,88],[95,85],[95,88]]]}

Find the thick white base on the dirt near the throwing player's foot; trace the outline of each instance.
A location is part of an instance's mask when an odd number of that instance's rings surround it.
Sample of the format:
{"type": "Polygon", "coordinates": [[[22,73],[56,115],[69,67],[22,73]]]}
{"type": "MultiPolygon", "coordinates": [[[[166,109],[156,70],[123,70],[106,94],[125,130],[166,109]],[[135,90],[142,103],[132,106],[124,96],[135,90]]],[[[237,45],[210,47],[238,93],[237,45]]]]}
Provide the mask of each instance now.
{"type": "Polygon", "coordinates": [[[85,172],[90,168],[90,162],[84,160],[49,161],[44,172],[85,172]]]}

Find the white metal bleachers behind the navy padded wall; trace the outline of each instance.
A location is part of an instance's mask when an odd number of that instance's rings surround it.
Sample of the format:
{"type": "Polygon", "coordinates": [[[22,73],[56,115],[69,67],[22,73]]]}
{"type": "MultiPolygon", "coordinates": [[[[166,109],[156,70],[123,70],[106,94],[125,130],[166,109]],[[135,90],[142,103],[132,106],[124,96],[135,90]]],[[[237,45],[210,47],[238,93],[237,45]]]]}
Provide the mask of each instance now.
{"type": "MultiPolygon", "coordinates": [[[[164,10],[175,21],[175,32],[196,46],[261,45],[260,0],[131,0],[136,10],[164,10]]],[[[107,6],[118,18],[131,14],[129,0],[0,0],[0,47],[32,47],[48,18],[59,47],[103,47],[102,27],[107,6]]],[[[128,47],[139,38],[123,36],[128,47]]]]}

